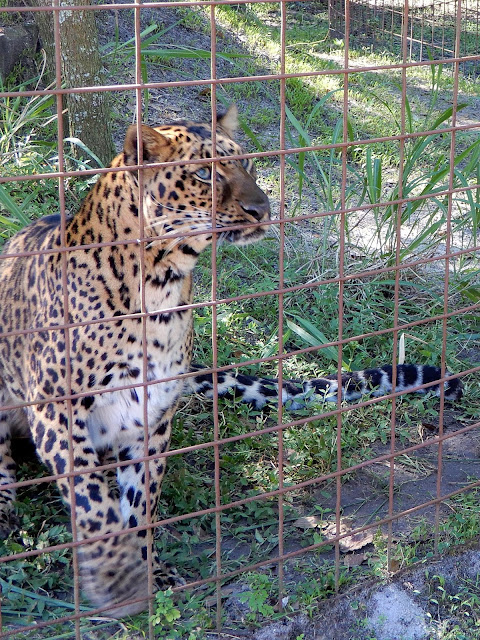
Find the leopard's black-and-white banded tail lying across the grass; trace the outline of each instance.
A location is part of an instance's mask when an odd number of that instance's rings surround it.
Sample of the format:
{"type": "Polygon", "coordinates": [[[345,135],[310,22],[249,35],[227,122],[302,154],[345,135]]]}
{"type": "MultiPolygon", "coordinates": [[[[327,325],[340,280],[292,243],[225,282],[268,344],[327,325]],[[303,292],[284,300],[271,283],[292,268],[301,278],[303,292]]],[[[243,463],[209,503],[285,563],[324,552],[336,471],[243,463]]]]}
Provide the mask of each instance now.
{"type": "MultiPolygon", "coordinates": [[[[414,391],[416,393],[433,392],[440,396],[440,367],[431,365],[400,364],[397,365],[395,391],[414,391]],[[420,385],[428,387],[417,388],[420,385]]],[[[200,393],[207,398],[213,397],[213,376],[205,365],[193,364],[195,376],[185,378],[185,393],[200,393]]],[[[450,378],[452,374],[445,372],[443,382],[445,400],[459,400],[463,393],[463,384],[459,378],[450,378]]],[[[241,402],[261,409],[266,403],[278,401],[278,380],[275,378],[259,378],[238,371],[219,371],[217,373],[218,395],[238,398],[241,402]]],[[[392,366],[384,365],[375,369],[342,373],[342,400],[352,402],[364,395],[380,397],[393,390],[392,366]]],[[[286,380],[282,383],[282,402],[291,410],[304,408],[308,402],[337,402],[337,375],[328,375],[312,380],[286,380]]]]}

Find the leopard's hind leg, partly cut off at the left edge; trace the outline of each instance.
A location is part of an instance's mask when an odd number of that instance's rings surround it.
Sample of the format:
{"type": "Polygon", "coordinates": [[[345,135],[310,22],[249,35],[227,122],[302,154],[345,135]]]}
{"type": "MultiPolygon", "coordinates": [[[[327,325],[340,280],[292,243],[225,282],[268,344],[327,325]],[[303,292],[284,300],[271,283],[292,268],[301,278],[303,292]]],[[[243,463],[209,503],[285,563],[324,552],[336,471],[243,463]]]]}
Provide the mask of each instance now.
{"type": "Polygon", "coordinates": [[[12,434],[28,434],[27,418],[22,409],[2,409],[15,404],[0,378],[0,538],[6,538],[19,526],[13,502],[16,464],[12,458],[12,434]]]}

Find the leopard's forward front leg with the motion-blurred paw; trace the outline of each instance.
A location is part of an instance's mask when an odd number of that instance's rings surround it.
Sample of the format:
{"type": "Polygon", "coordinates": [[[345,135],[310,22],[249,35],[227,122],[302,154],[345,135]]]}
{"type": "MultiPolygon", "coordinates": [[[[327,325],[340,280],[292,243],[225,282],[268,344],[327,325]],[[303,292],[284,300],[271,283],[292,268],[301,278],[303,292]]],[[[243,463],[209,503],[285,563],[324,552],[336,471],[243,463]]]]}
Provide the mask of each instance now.
{"type": "Polygon", "coordinates": [[[120,502],[109,489],[108,475],[97,470],[100,461],[87,428],[88,410],[80,402],[72,404],[71,439],[64,402],[29,407],[32,436],[38,454],[53,473],[82,472],[73,480],[68,476],[58,478],[57,484],[65,502],[71,508],[75,504],[77,538],[85,542],[78,548],[85,594],[96,607],[123,604],[108,612],[112,616],[131,615],[145,609],[150,595],[144,540],[136,532],[121,534],[126,527],[120,502]],[[73,449],[73,469],[68,447],[73,449]],[[88,542],[111,533],[119,535],[88,542]],[[128,604],[139,598],[140,602],[128,604]]]}

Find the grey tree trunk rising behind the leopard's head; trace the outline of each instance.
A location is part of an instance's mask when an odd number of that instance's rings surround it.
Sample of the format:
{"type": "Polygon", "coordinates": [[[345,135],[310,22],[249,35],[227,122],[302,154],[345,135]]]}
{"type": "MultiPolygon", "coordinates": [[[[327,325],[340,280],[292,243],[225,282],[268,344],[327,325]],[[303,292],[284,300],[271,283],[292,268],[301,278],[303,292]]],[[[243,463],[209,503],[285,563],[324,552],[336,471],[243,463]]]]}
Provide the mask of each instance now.
{"type": "MultiPolygon", "coordinates": [[[[32,2],[37,6],[51,6],[50,0],[32,2]]],[[[69,4],[81,5],[84,0],[69,0],[69,4]]],[[[50,74],[54,77],[53,16],[43,11],[35,15],[47,53],[50,74]]],[[[104,83],[94,11],[60,12],[60,54],[65,88],[91,87],[104,83]]],[[[68,135],[81,140],[103,164],[108,164],[115,155],[108,94],[67,94],[64,97],[65,107],[68,110],[68,135]]],[[[84,155],[79,147],[74,145],[72,148],[75,155],[84,155]]]]}

